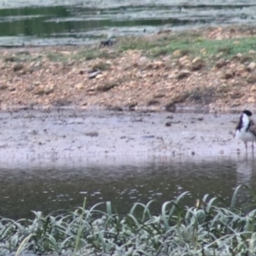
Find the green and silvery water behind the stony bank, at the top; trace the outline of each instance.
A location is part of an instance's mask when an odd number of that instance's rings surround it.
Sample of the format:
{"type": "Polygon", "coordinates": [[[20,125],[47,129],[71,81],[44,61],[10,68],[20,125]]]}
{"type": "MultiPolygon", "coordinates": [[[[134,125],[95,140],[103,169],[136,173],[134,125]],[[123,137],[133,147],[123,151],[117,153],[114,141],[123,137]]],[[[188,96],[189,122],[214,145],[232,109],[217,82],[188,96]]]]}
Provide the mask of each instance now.
{"type": "Polygon", "coordinates": [[[171,2],[1,1],[0,45],[90,44],[162,29],[254,24],[256,18],[253,0],[171,2]]]}

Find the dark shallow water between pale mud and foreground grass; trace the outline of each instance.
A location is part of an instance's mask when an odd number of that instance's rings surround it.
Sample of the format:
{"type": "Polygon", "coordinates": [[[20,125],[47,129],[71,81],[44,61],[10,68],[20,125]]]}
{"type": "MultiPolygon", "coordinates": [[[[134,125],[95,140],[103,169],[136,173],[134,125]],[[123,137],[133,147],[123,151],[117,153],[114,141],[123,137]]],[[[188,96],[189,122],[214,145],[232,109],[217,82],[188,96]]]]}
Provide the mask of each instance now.
{"type": "MultiPolygon", "coordinates": [[[[127,213],[135,202],[152,205],[154,213],[161,204],[170,201],[184,191],[191,194],[184,203],[194,206],[202,195],[218,195],[229,202],[237,185],[243,183],[255,187],[256,160],[250,155],[236,160],[212,158],[186,160],[169,157],[134,161],[120,164],[115,160],[105,162],[67,163],[56,162],[47,166],[1,165],[0,215],[9,218],[32,218],[32,210],[44,213],[55,210],[73,210],[82,206],[84,196],[87,207],[98,202],[112,201],[118,212],[127,213]]],[[[238,203],[250,202],[243,190],[238,203]]]]}

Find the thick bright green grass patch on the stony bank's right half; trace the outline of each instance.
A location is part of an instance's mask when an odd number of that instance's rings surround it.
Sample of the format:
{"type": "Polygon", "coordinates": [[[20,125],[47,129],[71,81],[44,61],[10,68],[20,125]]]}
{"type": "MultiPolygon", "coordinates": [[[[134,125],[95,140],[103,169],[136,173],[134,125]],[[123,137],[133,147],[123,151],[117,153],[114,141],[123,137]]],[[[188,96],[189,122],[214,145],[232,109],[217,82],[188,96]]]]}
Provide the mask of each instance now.
{"type": "Polygon", "coordinates": [[[181,55],[214,58],[224,56],[230,58],[238,53],[248,55],[249,50],[256,50],[256,37],[209,40],[198,33],[177,33],[163,38],[125,38],[118,44],[120,51],[140,49],[153,57],[172,55],[180,50],[181,55]]]}

